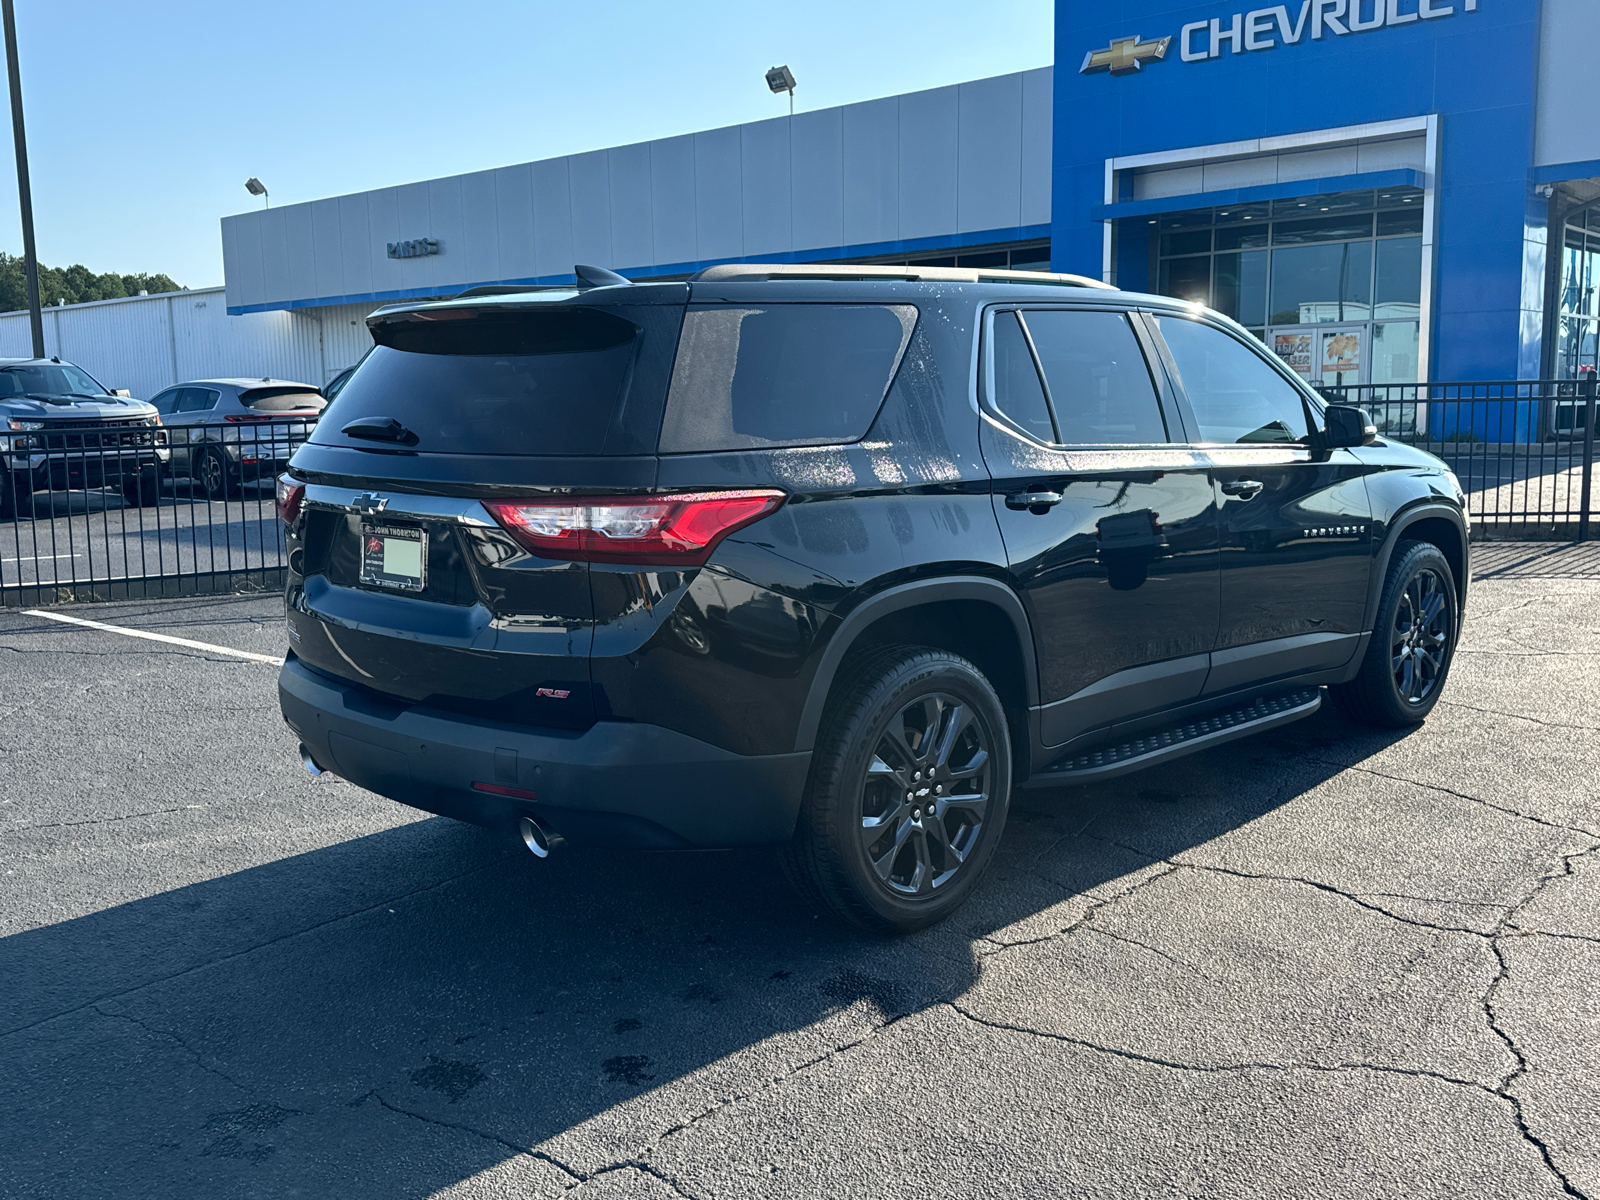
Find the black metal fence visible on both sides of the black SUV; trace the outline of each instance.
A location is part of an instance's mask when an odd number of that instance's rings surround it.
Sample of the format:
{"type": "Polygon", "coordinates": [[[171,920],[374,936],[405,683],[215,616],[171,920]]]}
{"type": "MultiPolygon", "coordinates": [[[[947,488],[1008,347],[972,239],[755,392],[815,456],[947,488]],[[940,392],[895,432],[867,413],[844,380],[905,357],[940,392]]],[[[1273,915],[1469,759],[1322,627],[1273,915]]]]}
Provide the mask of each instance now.
{"type": "MultiPolygon", "coordinates": [[[[1592,374],[1323,394],[1445,459],[1478,538],[1584,541],[1597,528],[1592,374]]],[[[0,429],[0,605],[282,587],[274,485],[312,427],[13,421],[0,429]]]]}

